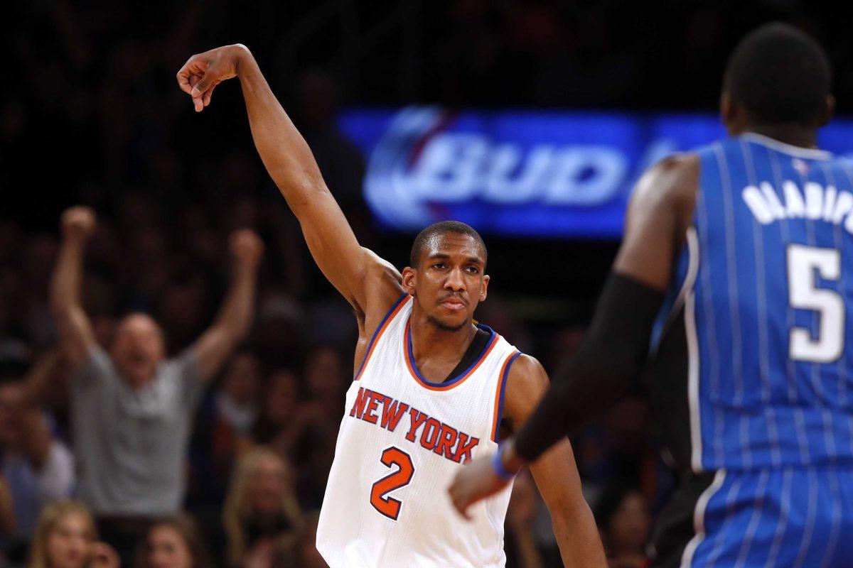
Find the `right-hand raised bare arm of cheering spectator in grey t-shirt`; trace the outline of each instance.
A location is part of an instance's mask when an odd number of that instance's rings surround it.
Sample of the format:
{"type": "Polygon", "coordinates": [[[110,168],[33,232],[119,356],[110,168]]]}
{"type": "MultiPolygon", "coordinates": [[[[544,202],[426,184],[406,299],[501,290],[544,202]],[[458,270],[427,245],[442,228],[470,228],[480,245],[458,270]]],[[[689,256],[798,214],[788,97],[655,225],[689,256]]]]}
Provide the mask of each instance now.
{"type": "Polygon", "coordinates": [[[264,255],[264,243],[255,232],[241,229],[231,235],[230,249],[234,268],[228,295],[211,327],[193,346],[205,379],[216,375],[246,336],[255,312],[258,266],[264,255]]]}

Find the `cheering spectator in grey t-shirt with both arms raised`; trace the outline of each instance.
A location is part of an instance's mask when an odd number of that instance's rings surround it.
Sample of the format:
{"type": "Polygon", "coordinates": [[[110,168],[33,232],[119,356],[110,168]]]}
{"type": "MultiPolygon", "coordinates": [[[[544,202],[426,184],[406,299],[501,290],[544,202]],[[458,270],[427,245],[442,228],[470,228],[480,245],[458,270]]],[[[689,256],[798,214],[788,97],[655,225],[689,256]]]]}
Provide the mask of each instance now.
{"type": "MultiPolygon", "coordinates": [[[[251,230],[232,233],[232,282],[217,317],[180,355],[166,359],[163,330],[146,313],[119,321],[108,352],[98,345],[80,294],[85,244],[95,228],[89,208],[62,215],[50,303],[71,373],[80,492],[104,540],[128,565],[154,520],[181,508],[192,418],[207,382],[252,324],[263,244],[251,230]]],[[[232,383],[239,385],[239,378],[232,383]]],[[[240,414],[234,396],[219,400],[229,401],[220,407],[232,416],[240,414]]]]}

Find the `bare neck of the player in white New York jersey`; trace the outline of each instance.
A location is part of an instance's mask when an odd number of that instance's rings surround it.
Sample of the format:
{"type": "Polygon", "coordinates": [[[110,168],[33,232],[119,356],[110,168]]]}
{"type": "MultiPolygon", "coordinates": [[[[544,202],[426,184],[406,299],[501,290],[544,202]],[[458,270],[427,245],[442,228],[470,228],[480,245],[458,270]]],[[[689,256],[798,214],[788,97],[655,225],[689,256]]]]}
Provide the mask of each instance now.
{"type": "Polygon", "coordinates": [[[432,367],[431,363],[438,364],[439,361],[445,363],[442,366],[450,365],[450,369],[446,372],[444,370],[438,372],[438,375],[444,373],[444,376],[437,379],[427,377],[437,382],[444,380],[447,373],[459,363],[474,336],[477,335],[477,327],[474,324],[463,325],[459,330],[442,329],[432,323],[427,314],[421,313],[420,310],[412,312],[409,325],[411,326],[412,355],[421,372],[432,367]]]}

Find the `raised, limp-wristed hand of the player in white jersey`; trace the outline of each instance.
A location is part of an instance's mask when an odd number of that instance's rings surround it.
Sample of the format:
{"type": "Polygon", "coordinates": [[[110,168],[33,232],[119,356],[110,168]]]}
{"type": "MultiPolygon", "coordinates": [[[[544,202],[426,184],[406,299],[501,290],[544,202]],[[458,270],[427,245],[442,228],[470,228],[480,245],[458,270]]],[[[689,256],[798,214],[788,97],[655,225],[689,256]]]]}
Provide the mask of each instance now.
{"type": "Polygon", "coordinates": [[[213,89],[223,81],[236,77],[240,61],[251,57],[245,45],[236,43],[193,55],[177,72],[177,84],[193,97],[195,112],[201,112],[211,104],[213,89]]]}

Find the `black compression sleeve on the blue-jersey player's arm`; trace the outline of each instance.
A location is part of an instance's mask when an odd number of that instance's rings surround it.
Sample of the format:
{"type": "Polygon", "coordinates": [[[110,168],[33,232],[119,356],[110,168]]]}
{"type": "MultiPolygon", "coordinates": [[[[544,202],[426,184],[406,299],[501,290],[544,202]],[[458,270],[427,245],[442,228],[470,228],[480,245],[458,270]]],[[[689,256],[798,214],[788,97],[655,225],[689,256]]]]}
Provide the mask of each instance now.
{"type": "Polygon", "coordinates": [[[577,353],[563,361],[537,410],[519,429],[515,451],[536,460],[560,438],[614,403],[646,361],[663,293],[611,273],[577,353]]]}

